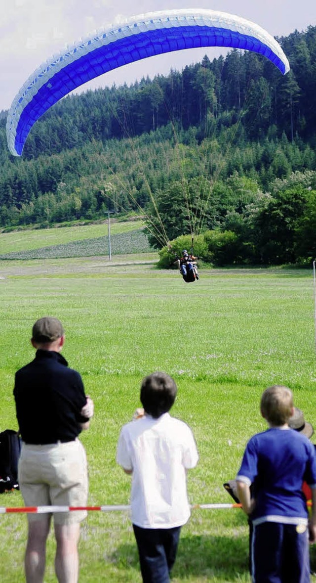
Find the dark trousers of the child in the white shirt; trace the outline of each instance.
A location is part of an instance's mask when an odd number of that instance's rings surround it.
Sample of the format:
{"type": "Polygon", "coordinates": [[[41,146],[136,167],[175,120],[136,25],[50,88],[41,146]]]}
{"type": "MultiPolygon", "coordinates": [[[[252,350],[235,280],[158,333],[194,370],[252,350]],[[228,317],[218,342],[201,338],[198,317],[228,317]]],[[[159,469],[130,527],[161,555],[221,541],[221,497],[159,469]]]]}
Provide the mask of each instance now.
{"type": "Polygon", "coordinates": [[[176,560],[181,526],[140,528],[133,524],[143,583],[169,583],[176,560]]]}

